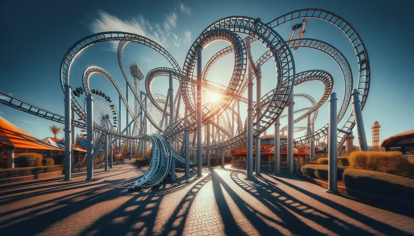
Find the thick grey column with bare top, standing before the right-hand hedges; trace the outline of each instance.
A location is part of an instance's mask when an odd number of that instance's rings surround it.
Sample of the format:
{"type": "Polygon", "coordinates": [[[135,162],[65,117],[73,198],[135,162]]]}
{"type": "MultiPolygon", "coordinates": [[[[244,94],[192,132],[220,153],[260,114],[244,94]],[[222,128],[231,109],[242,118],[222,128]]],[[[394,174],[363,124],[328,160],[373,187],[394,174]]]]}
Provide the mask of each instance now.
{"type": "MultiPolygon", "coordinates": [[[[357,94],[358,95],[358,94],[357,94]]],[[[338,150],[337,150],[337,96],[329,95],[329,140],[328,140],[328,191],[336,192],[338,184],[338,150]]]]}

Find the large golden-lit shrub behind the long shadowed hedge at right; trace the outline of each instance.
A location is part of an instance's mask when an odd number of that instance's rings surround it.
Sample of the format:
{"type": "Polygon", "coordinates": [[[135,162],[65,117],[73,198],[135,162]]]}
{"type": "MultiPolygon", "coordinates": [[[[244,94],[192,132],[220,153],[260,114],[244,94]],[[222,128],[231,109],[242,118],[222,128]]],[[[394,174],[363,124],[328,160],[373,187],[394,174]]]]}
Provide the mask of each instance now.
{"type": "Polygon", "coordinates": [[[411,174],[410,162],[399,151],[356,151],[349,155],[349,162],[353,169],[366,169],[402,176],[411,174]]]}

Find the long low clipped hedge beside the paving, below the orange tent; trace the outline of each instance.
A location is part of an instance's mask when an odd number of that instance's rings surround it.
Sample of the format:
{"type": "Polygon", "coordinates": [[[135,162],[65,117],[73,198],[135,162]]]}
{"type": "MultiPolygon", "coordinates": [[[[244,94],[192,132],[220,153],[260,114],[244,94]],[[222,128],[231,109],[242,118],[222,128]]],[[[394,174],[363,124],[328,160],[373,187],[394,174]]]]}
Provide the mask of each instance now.
{"type": "Polygon", "coordinates": [[[0,179],[43,174],[63,170],[62,165],[52,165],[45,167],[20,167],[13,169],[0,169],[0,179]]]}

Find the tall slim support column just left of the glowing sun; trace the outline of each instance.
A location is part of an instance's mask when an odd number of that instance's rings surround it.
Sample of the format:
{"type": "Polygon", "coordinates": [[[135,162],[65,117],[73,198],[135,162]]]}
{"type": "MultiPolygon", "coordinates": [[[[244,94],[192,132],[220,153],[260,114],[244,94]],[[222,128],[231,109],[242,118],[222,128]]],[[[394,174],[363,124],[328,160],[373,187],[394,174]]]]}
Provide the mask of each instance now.
{"type": "Polygon", "coordinates": [[[197,46],[197,176],[202,176],[202,64],[201,64],[201,46],[197,46]]]}

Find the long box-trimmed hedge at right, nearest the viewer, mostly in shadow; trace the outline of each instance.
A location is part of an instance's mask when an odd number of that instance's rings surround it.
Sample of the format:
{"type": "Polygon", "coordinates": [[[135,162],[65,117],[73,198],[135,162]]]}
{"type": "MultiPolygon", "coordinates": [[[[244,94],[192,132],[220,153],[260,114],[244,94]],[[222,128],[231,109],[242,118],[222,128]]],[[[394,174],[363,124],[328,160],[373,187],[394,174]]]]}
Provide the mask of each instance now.
{"type": "Polygon", "coordinates": [[[347,188],[401,200],[412,201],[414,181],[410,178],[363,169],[346,169],[344,183],[347,188]]]}

